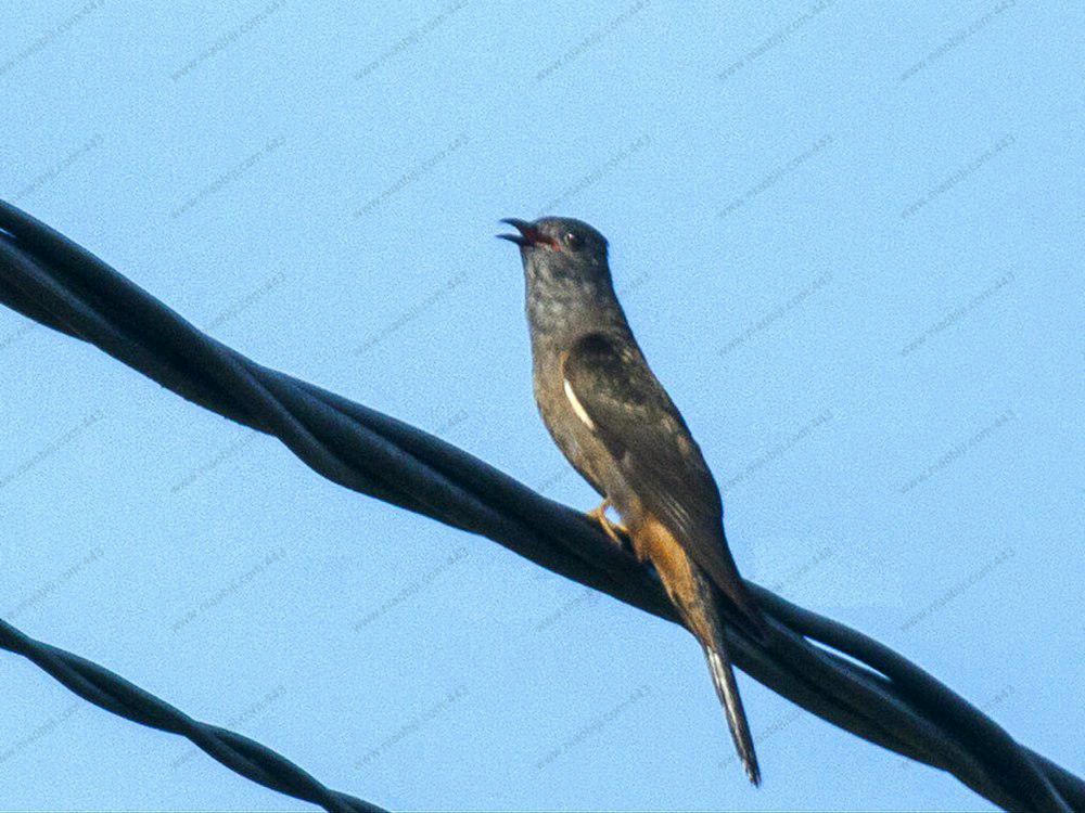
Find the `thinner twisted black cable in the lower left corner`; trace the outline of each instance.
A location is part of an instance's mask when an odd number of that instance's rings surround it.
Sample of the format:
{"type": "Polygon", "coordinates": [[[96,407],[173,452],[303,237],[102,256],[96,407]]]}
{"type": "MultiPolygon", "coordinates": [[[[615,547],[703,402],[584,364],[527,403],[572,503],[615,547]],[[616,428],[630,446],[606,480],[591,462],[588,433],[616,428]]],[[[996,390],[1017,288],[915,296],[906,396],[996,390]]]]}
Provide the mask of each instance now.
{"type": "Polygon", "coordinates": [[[50,644],[35,641],[0,619],[0,647],[22,655],[79,697],[106,711],[179,734],[242,776],[266,788],[319,804],[329,813],[383,813],[381,808],[330,790],[301,767],[254,739],[193,720],[115,672],[50,644]]]}

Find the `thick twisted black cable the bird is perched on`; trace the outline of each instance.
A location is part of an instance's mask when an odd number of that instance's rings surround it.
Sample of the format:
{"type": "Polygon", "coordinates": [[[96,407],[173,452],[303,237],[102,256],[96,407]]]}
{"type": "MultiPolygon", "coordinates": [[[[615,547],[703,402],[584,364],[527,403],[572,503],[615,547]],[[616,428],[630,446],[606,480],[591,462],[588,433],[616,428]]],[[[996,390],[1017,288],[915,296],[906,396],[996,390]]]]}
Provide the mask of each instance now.
{"type": "MultiPolygon", "coordinates": [[[[678,622],[650,569],[584,515],[470,454],[201,333],[104,262],[0,203],[0,301],[90,341],[206,409],[275,435],[347,488],[485,535],[522,556],[678,622]]],[[[1085,810],[1085,783],[1014,741],[906,659],[751,583],[768,646],[728,631],[743,671],[815,714],[948,771],[1012,810],[1085,810]],[[806,638],[819,641],[866,666],[806,638]]]]}

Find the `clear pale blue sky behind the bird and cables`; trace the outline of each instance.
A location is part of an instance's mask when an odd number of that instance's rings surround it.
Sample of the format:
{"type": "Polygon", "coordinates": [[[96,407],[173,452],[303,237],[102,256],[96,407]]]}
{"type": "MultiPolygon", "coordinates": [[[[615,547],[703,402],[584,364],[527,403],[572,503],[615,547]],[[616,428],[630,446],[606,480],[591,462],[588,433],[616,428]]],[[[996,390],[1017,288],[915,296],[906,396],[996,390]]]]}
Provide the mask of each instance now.
{"type": "MultiPolygon", "coordinates": [[[[22,3],[0,196],[217,338],[591,506],[501,217],[610,240],[750,578],[1081,773],[1085,11],[22,3]]],[[[392,809],[986,810],[492,542],[0,311],[3,618],[392,809]]],[[[11,810],[297,810],[0,657],[11,810]]]]}

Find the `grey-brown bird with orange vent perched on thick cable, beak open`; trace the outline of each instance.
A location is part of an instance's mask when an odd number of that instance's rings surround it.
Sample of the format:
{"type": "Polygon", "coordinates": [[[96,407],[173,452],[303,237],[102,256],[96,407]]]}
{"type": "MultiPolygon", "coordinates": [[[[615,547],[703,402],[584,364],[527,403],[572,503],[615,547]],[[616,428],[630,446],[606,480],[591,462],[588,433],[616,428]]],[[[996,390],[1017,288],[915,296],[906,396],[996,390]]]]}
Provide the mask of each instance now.
{"type": "Polygon", "coordinates": [[[717,596],[743,632],[768,627],[724,534],[719,488],[686,421],[649,367],[614,292],[607,238],[567,217],[501,220],[520,247],[532,346],[532,382],[558,448],[602,496],[587,516],[615,544],[651,563],[704,650],[745,774],[761,769],[717,596]],[[621,521],[607,515],[613,508],[621,521]]]}

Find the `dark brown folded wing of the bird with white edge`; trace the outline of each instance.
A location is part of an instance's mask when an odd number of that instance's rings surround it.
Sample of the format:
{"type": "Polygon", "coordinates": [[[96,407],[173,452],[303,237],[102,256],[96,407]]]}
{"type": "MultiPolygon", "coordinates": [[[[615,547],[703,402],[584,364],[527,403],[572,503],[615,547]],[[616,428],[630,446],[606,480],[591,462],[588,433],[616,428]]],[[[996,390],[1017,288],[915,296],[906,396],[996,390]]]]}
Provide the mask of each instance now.
{"type": "Polygon", "coordinates": [[[761,614],[727,549],[716,481],[636,345],[589,333],[565,354],[562,375],[574,412],[607,447],[646,511],[761,630],[761,614]]]}

